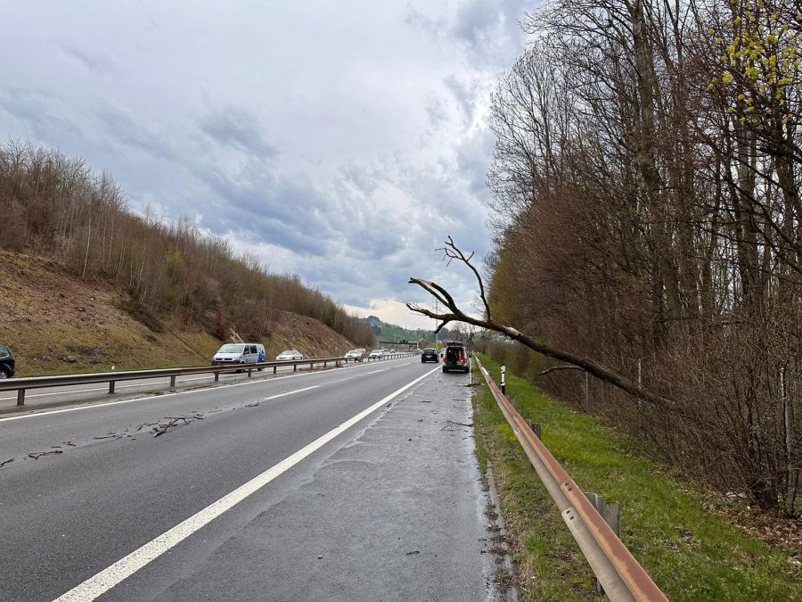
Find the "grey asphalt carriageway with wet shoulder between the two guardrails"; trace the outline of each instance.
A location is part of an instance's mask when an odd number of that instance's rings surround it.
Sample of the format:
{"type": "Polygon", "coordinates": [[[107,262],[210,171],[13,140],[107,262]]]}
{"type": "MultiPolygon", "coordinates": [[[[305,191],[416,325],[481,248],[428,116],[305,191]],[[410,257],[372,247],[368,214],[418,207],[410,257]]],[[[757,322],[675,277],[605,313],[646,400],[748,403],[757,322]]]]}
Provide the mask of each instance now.
{"type": "Polygon", "coordinates": [[[509,598],[466,382],[398,359],[2,418],[0,600],[509,598]]]}

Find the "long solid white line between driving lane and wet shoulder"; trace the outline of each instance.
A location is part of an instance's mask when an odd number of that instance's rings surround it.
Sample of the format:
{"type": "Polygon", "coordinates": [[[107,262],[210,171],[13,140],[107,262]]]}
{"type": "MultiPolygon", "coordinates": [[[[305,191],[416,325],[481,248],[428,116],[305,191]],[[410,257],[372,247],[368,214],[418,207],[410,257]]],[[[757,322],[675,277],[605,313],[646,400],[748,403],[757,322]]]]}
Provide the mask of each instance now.
{"type": "Polygon", "coordinates": [[[100,573],[95,574],[83,583],[80,583],[72,590],[62,594],[56,598],[54,602],[72,602],[73,600],[88,601],[94,600],[102,596],[105,592],[109,591],[121,581],[126,580],[132,574],[136,573],[143,566],[150,564],[153,560],[160,557],[167,552],[170,548],[174,548],[178,543],[185,540],[192,533],[197,532],[206,524],[211,523],[222,515],[226,510],[230,510],[243,499],[246,499],[259,491],[268,482],[273,481],[280,474],[290,470],[292,466],[298,464],[304,458],[314,453],[340,435],[347,431],[351,426],[356,425],[364,417],[369,416],[377,409],[381,408],[389,400],[393,400],[401,393],[412,387],[414,384],[420,383],[421,380],[427,376],[434,374],[439,367],[430,370],[425,375],[418,376],[413,382],[406,383],[403,387],[395,392],[390,393],[383,400],[377,401],[370,408],[366,408],[359,412],[356,416],[348,418],[340,426],[336,426],[322,437],[318,437],[315,441],[309,443],[306,447],[299,449],[291,456],[284,458],[281,462],[268,468],[264,473],[251,479],[231,493],[226,494],[222,498],[213,502],[209,506],[203,508],[200,512],[190,516],[184,522],[176,524],[175,527],[167,532],[163,532],[159,537],[144,544],[141,548],[135,549],[128,554],[127,557],[119,559],[113,565],[103,569],[100,573]]]}

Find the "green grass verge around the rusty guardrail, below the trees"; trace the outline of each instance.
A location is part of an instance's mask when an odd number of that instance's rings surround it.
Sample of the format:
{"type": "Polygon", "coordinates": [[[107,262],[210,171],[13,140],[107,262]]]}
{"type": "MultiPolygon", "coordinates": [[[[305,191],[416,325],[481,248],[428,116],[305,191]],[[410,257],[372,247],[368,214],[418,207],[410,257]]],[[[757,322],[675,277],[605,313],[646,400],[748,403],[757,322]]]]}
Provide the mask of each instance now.
{"type": "MultiPolygon", "coordinates": [[[[482,362],[497,380],[498,365],[482,362]]],[[[799,551],[769,548],[708,512],[699,491],[638,455],[634,441],[509,372],[507,394],[542,425],[545,445],[583,491],[620,502],[621,540],[668,598],[802,599],[799,551]]],[[[518,535],[524,599],[597,598],[593,574],[487,387],[473,402],[479,463],[490,459],[504,518],[518,535]]]]}

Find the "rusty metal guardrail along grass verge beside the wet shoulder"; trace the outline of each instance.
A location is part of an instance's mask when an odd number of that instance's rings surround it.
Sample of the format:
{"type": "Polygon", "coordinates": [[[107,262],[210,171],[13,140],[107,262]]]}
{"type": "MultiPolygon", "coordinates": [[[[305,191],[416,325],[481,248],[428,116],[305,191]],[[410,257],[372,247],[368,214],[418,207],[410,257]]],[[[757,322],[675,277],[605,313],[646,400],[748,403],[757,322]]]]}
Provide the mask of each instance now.
{"type": "Polygon", "coordinates": [[[610,600],[667,600],[474,356],[496,403],[610,600]]]}

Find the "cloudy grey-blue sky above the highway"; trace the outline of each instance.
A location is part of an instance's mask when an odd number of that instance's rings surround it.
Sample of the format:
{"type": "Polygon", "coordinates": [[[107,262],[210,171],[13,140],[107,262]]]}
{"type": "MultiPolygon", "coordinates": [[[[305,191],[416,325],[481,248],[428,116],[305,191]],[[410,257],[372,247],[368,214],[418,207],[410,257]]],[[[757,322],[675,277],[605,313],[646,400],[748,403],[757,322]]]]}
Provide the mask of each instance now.
{"type": "Polygon", "coordinates": [[[106,169],[336,301],[431,327],[409,276],[471,303],[489,96],[524,0],[0,0],[0,136],[106,169]]]}

